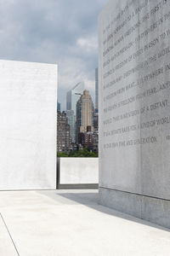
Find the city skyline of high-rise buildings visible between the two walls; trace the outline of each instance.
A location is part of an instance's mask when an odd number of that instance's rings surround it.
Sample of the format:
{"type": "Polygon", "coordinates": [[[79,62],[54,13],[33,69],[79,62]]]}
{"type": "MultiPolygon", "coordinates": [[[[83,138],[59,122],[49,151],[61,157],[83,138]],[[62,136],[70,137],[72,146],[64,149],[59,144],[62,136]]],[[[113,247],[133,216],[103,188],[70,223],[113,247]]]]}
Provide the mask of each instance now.
{"type": "MultiPolygon", "coordinates": [[[[71,154],[82,149],[98,153],[98,109],[94,108],[89,91],[83,89],[83,82],[76,84],[66,94],[67,109],[61,111],[58,108],[57,149],[60,156],[62,153],[71,154]]],[[[98,102],[98,93],[95,95],[95,102],[98,102]]],[[[60,107],[59,102],[58,106],[60,107]]]]}

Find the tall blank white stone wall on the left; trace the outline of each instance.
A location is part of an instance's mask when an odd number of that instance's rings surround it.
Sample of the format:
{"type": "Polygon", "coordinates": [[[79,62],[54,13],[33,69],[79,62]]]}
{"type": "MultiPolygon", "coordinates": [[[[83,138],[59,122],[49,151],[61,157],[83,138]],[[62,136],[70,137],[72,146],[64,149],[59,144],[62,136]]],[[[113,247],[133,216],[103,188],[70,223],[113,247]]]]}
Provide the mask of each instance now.
{"type": "Polygon", "coordinates": [[[56,187],[57,66],[0,61],[0,189],[56,187]]]}

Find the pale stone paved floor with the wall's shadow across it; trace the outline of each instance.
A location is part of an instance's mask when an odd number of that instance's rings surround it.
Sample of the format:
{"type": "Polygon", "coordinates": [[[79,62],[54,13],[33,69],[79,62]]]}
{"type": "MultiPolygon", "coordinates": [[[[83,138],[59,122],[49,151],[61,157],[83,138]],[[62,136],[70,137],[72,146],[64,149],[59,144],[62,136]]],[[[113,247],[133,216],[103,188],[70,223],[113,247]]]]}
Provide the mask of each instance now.
{"type": "Polygon", "coordinates": [[[0,256],[170,255],[170,230],[100,206],[97,192],[0,192],[0,256]]]}

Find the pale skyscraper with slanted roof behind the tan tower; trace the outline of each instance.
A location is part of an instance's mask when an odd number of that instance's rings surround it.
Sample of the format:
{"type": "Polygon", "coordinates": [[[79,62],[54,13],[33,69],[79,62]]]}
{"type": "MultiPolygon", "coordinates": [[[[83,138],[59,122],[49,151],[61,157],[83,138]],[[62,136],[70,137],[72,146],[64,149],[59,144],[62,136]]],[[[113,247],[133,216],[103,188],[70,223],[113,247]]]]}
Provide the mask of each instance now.
{"type": "Polygon", "coordinates": [[[84,90],[84,82],[76,84],[66,95],[66,109],[73,110],[74,114],[77,113],[77,101],[79,100],[84,90]]]}

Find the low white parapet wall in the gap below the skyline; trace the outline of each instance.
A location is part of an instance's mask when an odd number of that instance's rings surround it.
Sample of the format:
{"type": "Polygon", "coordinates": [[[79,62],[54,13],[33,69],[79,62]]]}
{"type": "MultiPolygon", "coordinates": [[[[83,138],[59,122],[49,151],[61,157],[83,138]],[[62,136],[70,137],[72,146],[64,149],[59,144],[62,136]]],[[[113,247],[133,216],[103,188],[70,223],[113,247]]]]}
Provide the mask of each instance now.
{"type": "Polygon", "coordinates": [[[60,158],[60,184],[99,183],[98,158],[60,158]]]}

